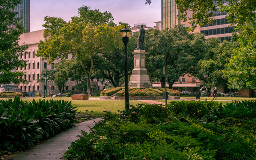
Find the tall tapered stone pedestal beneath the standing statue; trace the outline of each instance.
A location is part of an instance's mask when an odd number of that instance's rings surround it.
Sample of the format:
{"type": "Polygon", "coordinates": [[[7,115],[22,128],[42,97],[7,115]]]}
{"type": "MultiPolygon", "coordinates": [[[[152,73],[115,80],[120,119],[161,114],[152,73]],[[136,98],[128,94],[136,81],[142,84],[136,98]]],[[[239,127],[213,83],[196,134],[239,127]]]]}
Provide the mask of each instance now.
{"type": "Polygon", "coordinates": [[[148,71],[145,68],[145,58],[147,52],[145,50],[134,50],[134,69],[132,70],[132,76],[130,77],[129,88],[152,88],[152,84],[149,81],[148,71]]]}

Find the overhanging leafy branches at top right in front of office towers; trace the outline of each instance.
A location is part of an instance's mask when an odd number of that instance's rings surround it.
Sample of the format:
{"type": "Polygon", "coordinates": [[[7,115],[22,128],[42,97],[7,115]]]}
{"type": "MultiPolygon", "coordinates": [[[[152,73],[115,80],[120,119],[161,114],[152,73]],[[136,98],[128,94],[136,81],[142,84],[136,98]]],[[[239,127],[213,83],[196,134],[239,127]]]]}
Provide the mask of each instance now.
{"type": "Polygon", "coordinates": [[[256,5],[253,0],[176,0],[177,9],[180,10],[180,19],[191,20],[189,24],[195,29],[196,26],[204,25],[208,21],[214,20],[212,11],[226,12],[225,16],[232,25],[239,27],[255,22],[256,5]],[[191,17],[187,17],[188,12],[193,12],[191,17]]]}

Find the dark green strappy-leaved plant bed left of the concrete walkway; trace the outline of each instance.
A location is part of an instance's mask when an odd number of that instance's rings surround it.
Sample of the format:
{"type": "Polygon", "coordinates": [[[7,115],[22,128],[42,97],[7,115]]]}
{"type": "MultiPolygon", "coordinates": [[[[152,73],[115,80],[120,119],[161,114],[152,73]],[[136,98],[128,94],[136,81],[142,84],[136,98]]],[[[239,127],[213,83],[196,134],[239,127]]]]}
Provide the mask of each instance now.
{"type": "Polygon", "coordinates": [[[72,127],[74,108],[64,100],[0,100],[0,148],[22,150],[72,127]]]}

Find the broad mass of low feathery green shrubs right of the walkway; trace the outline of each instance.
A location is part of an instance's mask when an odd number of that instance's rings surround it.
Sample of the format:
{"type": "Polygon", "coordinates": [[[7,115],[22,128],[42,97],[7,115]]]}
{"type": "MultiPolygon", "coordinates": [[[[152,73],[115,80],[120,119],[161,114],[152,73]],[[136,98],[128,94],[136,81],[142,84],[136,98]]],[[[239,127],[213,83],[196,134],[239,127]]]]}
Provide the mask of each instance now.
{"type": "MultiPolygon", "coordinates": [[[[215,102],[204,102],[215,103],[215,102]]],[[[184,120],[166,107],[138,104],[107,112],[64,154],[68,160],[255,160],[256,119],[184,120]]]]}

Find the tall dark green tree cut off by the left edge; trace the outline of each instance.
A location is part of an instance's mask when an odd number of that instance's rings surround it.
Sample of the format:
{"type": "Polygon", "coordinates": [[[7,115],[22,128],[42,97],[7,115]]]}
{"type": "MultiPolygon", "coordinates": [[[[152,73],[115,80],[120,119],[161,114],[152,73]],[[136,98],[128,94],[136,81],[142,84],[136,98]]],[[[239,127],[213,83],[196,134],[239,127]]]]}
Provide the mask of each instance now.
{"type": "Polygon", "coordinates": [[[20,2],[21,0],[0,1],[0,84],[28,83],[26,79],[22,79],[24,72],[12,72],[15,68],[26,66],[26,61],[19,58],[26,53],[28,46],[18,44],[19,36],[25,30],[20,18],[15,18],[17,12],[12,12],[20,2]]]}

